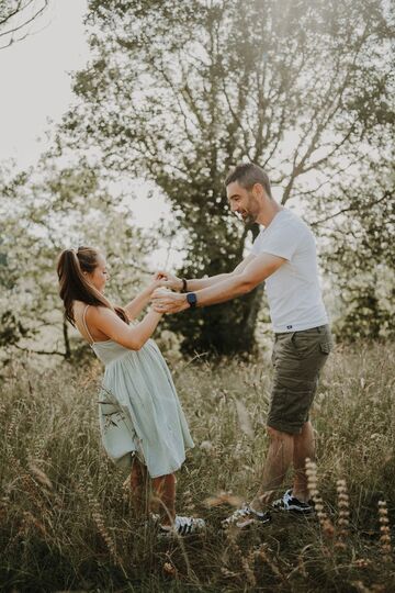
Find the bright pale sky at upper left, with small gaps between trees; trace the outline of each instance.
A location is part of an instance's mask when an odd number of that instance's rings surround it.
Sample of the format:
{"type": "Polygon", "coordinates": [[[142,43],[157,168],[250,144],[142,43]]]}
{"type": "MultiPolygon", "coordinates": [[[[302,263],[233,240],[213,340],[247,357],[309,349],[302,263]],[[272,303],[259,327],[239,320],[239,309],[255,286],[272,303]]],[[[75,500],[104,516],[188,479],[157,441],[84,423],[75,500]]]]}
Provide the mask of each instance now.
{"type": "MultiPolygon", "coordinates": [[[[29,36],[0,49],[0,161],[12,158],[24,169],[48,148],[46,131],[74,102],[70,75],[89,58],[87,5],[87,0],[49,0],[29,36]]],[[[137,224],[151,226],[169,213],[162,200],[147,200],[147,187],[137,181],[134,189],[139,194],[133,203],[137,224]]],[[[158,265],[168,261],[167,250],[159,251],[159,260],[158,265]]]]}

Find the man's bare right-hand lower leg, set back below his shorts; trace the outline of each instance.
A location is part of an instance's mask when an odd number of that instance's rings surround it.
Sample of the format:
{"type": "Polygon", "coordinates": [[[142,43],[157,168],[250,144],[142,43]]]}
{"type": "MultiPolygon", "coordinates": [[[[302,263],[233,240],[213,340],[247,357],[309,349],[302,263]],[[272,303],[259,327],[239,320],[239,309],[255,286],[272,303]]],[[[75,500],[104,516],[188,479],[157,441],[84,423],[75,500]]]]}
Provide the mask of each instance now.
{"type": "Polygon", "coordinates": [[[306,457],[312,460],[315,459],[314,433],[311,422],[303,425],[300,435],[294,435],[293,466],[295,473],[292,495],[301,502],[307,502],[309,499],[305,467],[306,457]]]}

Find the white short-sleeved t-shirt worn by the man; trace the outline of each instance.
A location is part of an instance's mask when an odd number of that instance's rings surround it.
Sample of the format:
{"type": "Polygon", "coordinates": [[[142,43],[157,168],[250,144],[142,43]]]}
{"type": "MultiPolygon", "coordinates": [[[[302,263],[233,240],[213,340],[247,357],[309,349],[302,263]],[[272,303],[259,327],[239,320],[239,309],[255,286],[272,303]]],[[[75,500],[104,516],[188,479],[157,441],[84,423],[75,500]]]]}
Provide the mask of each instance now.
{"type": "Polygon", "coordinates": [[[286,261],[266,279],[275,333],[300,332],[328,323],[318,282],[315,238],[290,210],[280,210],[252,245],[253,255],[272,254],[286,261]]]}

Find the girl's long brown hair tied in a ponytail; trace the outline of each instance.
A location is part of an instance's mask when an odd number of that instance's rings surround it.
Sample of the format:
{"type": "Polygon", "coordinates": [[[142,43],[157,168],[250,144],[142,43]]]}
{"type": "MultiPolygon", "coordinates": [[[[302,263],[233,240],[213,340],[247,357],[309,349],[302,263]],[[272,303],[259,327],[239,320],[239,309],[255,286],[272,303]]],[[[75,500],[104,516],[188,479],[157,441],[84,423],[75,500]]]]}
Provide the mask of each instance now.
{"type": "Polygon", "coordinates": [[[59,256],[57,262],[59,295],[65,305],[65,317],[71,325],[76,325],[72,311],[75,301],[111,309],[122,321],[128,323],[126,312],[120,306],[113,306],[83,276],[83,272],[92,273],[94,271],[98,266],[98,256],[99,251],[92,247],[78,247],[77,251],[65,249],[59,256]]]}

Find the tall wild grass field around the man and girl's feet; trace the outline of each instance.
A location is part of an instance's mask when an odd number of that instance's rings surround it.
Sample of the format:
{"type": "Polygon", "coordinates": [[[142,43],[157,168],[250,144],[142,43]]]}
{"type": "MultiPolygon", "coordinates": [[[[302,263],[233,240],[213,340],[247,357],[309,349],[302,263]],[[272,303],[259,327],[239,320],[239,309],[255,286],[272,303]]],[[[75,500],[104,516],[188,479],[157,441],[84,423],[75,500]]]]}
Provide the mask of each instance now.
{"type": "Polygon", "coordinates": [[[0,586],[395,591],[394,360],[390,344],[337,348],[312,414],[319,516],[276,514],[241,534],[219,523],[232,494],[248,500],[259,483],[269,357],[173,366],[196,445],[178,473],[178,510],[205,517],[208,528],[171,542],[134,517],[127,475],[101,449],[101,368],[43,371],[15,360],[1,384],[0,586]]]}

